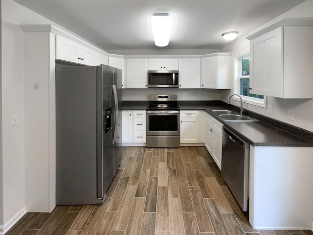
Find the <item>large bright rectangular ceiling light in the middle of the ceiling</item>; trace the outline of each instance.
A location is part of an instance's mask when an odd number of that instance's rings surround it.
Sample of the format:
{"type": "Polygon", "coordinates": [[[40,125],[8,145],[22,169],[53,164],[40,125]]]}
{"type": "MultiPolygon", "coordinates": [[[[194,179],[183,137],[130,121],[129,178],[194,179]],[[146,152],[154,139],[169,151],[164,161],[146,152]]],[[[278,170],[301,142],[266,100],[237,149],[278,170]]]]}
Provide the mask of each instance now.
{"type": "Polygon", "coordinates": [[[171,36],[173,18],[167,13],[156,13],[151,17],[151,24],[156,46],[167,46],[171,36]]]}

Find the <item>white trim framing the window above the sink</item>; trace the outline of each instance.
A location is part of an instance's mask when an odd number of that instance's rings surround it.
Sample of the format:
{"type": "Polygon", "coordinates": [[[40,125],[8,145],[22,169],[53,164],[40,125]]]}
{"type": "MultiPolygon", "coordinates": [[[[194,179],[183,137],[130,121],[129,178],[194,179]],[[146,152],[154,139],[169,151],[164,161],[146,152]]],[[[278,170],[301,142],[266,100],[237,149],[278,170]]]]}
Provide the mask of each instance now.
{"type": "MultiPolygon", "coordinates": [[[[250,52],[245,51],[242,52],[238,55],[234,56],[234,93],[235,94],[240,94],[240,78],[239,78],[239,72],[240,72],[240,59],[247,56],[250,52]]],[[[243,103],[259,106],[262,108],[267,108],[267,96],[264,95],[264,100],[254,98],[254,97],[249,97],[246,95],[240,95],[243,99],[243,103]]],[[[240,98],[238,98],[236,95],[232,97],[233,100],[240,101],[240,98]]]]}

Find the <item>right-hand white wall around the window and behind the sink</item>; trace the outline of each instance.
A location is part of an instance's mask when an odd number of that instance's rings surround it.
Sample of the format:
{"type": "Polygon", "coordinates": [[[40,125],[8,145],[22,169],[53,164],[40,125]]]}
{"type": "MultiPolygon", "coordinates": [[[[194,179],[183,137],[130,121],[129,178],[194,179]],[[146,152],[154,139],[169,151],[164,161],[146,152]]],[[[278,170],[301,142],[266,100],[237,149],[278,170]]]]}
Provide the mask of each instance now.
{"type": "MultiPolygon", "coordinates": [[[[282,17],[313,17],[313,0],[307,0],[303,2],[302,4],[292,8],[290,11],[273,19],[267,24],[260,26],[258,29],[270,25],[273,22],[278,21],[282,17]]],[[[253,32],[257,31],[258,29],[254,30],[253,32]]],[[[225,46],[223,48],[223,52],[233,52],[234,55],[238,55],[242,52],[248,51],[249,40],[246,39],[246,36],[247,35],[238,38],[236,41],[225,46]]],[[[230,92],[225,91],[221,95],[222,100],[226,102],[228,96],[232,93],[234,93],[233,90],[230,92]]],[[[238,101],[233,100],[231,101],[231,103],[240,106],[238,101]]],[[[313,121],[312,121],[313,99],[282,99],[268,96],[267,105],[273,106],[272,115],[268,114],[268,110],[266,108],[261,108],[254,105],[244,104],[244,109],[289,123],[294,126],[304,128],[309,131],[313,131],[313,121]],[[287,119],[288,110],[293,110],[293,121],[287,119]]]]}

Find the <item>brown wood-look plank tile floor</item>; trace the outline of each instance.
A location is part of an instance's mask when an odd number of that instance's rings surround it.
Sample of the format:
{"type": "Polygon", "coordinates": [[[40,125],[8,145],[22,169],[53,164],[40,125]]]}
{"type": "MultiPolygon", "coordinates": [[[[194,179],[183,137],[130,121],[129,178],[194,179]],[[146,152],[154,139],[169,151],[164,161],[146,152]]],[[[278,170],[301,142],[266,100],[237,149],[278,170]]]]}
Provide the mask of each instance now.
{"type": "Polygon", "coordinates": [[[204,147],[123,147],[102,205],[26,213],[6,235],[313,235],[254,230],[204,147]]]}

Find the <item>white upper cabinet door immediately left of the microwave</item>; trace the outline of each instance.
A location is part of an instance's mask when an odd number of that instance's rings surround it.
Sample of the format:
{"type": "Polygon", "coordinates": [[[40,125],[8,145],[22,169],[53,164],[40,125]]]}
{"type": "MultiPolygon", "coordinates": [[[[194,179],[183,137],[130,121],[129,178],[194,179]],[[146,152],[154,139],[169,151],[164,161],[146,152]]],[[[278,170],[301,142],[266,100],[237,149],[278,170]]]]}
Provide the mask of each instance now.
{"type": "Polygon", "coordinates": [[[127,59],[127,88],[148,88],[148,59],[127,59]]]}

